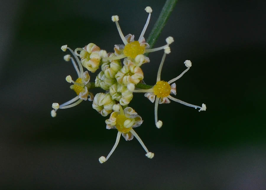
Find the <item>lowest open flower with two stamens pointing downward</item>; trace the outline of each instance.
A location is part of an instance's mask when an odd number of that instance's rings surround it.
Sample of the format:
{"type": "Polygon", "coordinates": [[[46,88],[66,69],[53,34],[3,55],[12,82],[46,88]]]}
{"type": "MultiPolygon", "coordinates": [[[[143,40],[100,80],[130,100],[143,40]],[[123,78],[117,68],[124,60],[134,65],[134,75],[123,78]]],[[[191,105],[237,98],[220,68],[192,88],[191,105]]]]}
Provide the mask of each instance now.
{"type": "MultiPolygon", "coordinates": [[[[151,153],[148,151],[140,137],[137,135],[137,133],[132,129],[134,127],[139,127],[142,124],[142,118],[137,114],[137,112],[134,111],[131,107],[126,107],[124,110],[121,107],[120,104],[118,104],[119,110],[111,113],[110,118],[106,119],[106,129],[117,129],[117,137],[116,142],[108,154],[108,156],[105,158],[104,156],[101,156],[99,158],[99,162],[103,163],[110,158],[113,151],[116,149],[121,134],[125,138],[125,140],[132,140],[133,137],[136,137],[137,140],[140,142],[144,150],[146,151],[146,156],[148,158],[153,158],[154,153],[151,153]]],[[[114,106],[115,107],[115,106],[114,106]]]]}

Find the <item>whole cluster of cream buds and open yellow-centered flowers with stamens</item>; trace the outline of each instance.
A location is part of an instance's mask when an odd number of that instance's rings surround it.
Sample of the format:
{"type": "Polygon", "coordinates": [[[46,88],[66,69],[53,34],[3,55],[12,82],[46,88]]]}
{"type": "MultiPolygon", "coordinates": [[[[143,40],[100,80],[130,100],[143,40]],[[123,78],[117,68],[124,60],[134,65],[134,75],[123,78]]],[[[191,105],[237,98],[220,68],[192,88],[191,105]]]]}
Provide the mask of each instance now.
{"type": "Polygon", "coordinates": [[[63,51],[68,49],[73,56],[65,55],[64,60],[71,61],[77,72],[75,81],[72,80],[70,75],[66,77],[67,82],[73,83],[70,89],[74,90],[76,96],[63,104],[53,103],[51,116],[56,117],[58,109],[74,107],[83,100],[93,101],[93,109],[102,116],[106,117],[110,114],[109,119],[105,121],[106,129],[118,130],[116,142],[107,157],[101,156],[99,158],[100,163],[106,162],[110,158],[119,143],[121,135],[125,140],[132,140],[135,137],[144,148],[145,155],[148,158],[153,158],[154,156],[154,153],[148,151],[140,137],[133,130],[134,127],[139,127],[143,122],[142,117],[128,106],[133,98],[133,93],[145,92],[145,97],[152,102],[155,101],[155,125],[158,128],[163,125],[163,122],[158,120],[157,116],[158,104],[170,103],[170,100],[173,100],[186,106],[199,108],[199,111],[206,110],[205,104],[202,104],[201,107],[195,106],[170,95],[176,95],[176,84],[173,82],[189,70],[192,66],[191,61],[186,60],[184,62],[187,69],[176,78],[168,82],[160,79],[166,54],[171,52],[169,45],[174,40],[173,37],[167,37],[166,45],[159,48],[150,48],[150,45],[145,41],[144,34],[150,21],[152,9],[147,6],[145,10],[148,13],[148,18],[137,41],[134,40],[134,35],[132,34],[124,36],[118,24],[119,17],[117,15],[112,16],[112,21],[115,22],[121,40],[124,43],[122,45],[114,45],[113,53],[107,53],[93,43],[89,43],[84,48],[76,48],[74,51],[67,45],[61,47],[63,51]],[[159,50],[164,50],[164,54],[158,69],[157,82],[153,86],[145,85],[143,83],[144,73],[141,65],[149,63],[150,59],[144,54],[159,50]],[[86,68],[87,71],[84,72],[83,68],[86,68]],[[94,73],[97,70],[99,72],[95,82],[90,82],[88,71],[94,73]],[[143,86],[145,88],[142,88],[143,86]],[[90,89],[97,87],[103,89],[105,93],[101,92],[94,96],[90,89]]]}

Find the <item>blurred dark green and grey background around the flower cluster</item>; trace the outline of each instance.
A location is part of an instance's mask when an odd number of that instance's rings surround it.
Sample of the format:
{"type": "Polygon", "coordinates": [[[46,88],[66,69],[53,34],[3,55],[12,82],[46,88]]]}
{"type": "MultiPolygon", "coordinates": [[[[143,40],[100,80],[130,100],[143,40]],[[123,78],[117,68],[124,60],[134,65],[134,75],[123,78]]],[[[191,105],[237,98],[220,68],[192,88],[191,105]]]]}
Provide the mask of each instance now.
{"type": "MultiPolygon", "coordinates": [[[[59,110],[53,102],[75,96],[65,81],[76,76],[60,50],[90,42],[113,51],[123,33],[139,37],[153,9],[150,33],[164,1],[3,1],[0,7],[0,189],[266,189],[265,1],[178,1],[155,47],[173,36],[162,79],[192,68],[176,82],[176,97],[207,105],[206,112],[171,102],[154,104],[135,94],[144,120],[136,139],[121,138],[106,156],[116,130],[91,102],[59,110]]],[[[68,54],[68,53],[67,53],[68,54]]],[[[163,52],[142,66],[154,84],[163,52]]],[[[92,80],[95,74],[92,74],[92,80]]],[[[93,91],[95,94],[97,90],[93,91]]]]}

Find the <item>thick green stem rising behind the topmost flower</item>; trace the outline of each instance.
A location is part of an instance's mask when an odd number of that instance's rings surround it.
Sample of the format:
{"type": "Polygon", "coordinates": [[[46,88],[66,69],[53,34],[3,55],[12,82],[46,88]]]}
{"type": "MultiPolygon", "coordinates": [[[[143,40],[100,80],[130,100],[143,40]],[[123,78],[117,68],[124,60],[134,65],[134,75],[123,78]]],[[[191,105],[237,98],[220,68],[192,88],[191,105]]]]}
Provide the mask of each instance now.
{"type": "MultiPolygon", "coordinates": [[[[154,27],[147,39],[147,43],[150,45],[150,48],[153,48],[155,42],[157,41],[160,33],[163,30],[163,27],[165,26],[171,12],[173,11],[173,8],[176,5],[177,0],[166,0],[163,9],[157,19],[157,21],[154,24],[154,27]]],[[[149,53],[146,53],[148,55],[149,53]]]]}

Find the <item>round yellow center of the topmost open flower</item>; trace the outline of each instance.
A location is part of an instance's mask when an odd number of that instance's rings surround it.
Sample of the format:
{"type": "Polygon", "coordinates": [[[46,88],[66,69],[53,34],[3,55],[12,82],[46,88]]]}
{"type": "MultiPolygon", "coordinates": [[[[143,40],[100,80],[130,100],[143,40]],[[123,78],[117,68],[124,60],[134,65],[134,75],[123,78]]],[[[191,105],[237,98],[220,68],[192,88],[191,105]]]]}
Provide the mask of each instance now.
{"type": "Polygon", "coordinates": [[[140,42],[134,41],[134,42],[130,42],[129,44],[125,45],[123,53],[124,55],[126,55],[126,57],[130,57],[134,59],[137,55],[143,54],[144,50],[145,50],[145,47],[141,46],[140,42]]]}

